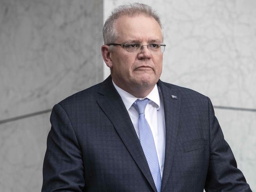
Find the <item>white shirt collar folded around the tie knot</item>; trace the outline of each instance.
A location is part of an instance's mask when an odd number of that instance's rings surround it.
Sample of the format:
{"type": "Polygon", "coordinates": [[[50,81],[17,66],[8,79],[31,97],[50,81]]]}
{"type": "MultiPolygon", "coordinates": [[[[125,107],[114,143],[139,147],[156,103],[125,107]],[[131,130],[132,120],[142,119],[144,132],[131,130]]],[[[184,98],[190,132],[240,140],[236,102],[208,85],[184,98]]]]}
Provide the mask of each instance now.
{"type": "MultiPolygon", "coordinates": [[[[119,93],[119,95],[122,98],[122,101],[124,102],[124,106],[126,108],[126,110],[128,111],[130,109],[130,107],[132,106],[132,104],[137,100],[141,100],[144,98],[137,98],[135,96],[133,96],[132,94],[128,93],[127,91],[121,89],[120,87],[118,87],[115,82],[112,79],[112,83],[115,87],[115,89],[117,90],[117,92],[119,93]]],[[[157,105],[157,110],[160,109],[160,97],[159,97],[159,92],[158,92],[158,88],[157,85],[155,85],[154,89],[152,89],[152,91],[146,96],[148,99],[150,99],[152,102],[156,103],[157,105]]],[[[145,97],[145,98],[146,98],[145,97]]]]}

